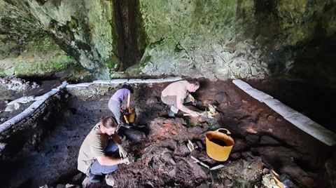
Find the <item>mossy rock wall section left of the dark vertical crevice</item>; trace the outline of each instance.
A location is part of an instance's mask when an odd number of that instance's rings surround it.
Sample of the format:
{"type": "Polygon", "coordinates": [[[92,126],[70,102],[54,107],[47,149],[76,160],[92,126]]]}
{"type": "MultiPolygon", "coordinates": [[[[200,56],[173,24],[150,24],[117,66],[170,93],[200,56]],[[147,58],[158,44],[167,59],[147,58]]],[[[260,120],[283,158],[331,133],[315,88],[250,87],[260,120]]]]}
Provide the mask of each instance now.
{"type": "MultiPolygon", "coordinates": [[[[3,20],[16,26],[11,27],[10,34],[25,29],[22,34],[32,36],[41,33],[40,36],[50,36],[67,55],[100,77],[108,78],[107,67],[118,65],[118,58],[114,54],[116,36],[111,24],[111,1],[0,2],[3,9],[10,10],[8,15],[1,14],[1,27],[5,28],[3,20]],[[24,21],[27,18],[29,22],[24,21]]],[[[5,37],[8,38],[8,34],[5,33],[5,37]]],[[[58,51],[57,48],[52,50],[58,51]]]]}

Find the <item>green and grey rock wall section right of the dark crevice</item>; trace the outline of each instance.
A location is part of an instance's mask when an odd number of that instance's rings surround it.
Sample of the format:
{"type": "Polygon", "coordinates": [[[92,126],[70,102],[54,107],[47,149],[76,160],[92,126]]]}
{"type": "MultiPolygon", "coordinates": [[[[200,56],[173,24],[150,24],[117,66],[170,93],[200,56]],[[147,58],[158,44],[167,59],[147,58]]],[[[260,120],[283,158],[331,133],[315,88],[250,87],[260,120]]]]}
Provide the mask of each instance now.
{"type": "Polygon", "coordinates": [[[316,47],[307,41],[335,39],[335,1],[139,1],[148,46],[132,71],[142,74],[283,75],[309,69],[295,59],[316,47]]]}

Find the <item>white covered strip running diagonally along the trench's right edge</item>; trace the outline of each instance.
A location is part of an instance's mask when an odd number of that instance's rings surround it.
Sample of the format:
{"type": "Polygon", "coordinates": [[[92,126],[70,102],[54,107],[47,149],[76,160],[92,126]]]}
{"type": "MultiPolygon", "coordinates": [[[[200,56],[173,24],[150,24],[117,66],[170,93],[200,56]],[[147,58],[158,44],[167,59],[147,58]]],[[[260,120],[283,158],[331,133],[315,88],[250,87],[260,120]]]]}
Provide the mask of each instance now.
{"type": "Polygon", "coordinates": [[[336,145],[336,133],[324,128],[315,121],[312,121],[307,116],[304,116],[300,112],[295,111],[295,109],[283,105],[279,100],[272,98],[272,96],[267,95],[260,90],[258,90],[258,92],[255,91],[255,88],[252,88],[244,81],[237,79],[233,80],[232,82],[235,83],[235,85],[238,86],[241,90],[244,90],[246,93],[251,95],[251,97],[259,100],[260,102],[265,102],[267,106],[273,109],[276,113],[283,116],[283,118],[290,123],[293,123],[293,125],[297,126],[297,128],[300,128],[304,132],[315,137],[317,140],[320,140],[326,145],[336,145]]]}

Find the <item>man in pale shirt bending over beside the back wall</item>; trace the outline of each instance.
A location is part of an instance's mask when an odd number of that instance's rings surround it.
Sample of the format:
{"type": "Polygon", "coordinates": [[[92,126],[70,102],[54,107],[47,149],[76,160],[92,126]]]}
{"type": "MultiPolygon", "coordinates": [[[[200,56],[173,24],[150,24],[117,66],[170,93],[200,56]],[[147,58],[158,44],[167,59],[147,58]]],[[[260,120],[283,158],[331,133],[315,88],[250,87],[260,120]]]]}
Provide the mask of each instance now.
{"type": "Polygon", "coordinates": [[[195,92],[198,88],[200,88],[200,82],[198,82],[197,79],[190,79],[188,81],[170,83],[167,88],[162,90],[162,102],[171,106],[169,116],[174,117],[179,110],[191,116],[199,116],[200,114],[198,112],[190,110],[183,105],[183,103],[193,102],[195,100],[189,92],[195,92]]]}

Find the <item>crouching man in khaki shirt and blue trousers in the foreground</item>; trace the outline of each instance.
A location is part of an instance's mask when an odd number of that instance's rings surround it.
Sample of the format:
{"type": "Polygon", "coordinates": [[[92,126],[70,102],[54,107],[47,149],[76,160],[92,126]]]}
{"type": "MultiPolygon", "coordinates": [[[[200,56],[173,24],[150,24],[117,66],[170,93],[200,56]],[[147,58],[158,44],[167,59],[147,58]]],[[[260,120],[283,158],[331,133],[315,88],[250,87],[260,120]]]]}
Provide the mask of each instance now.
{"type": "Polygon", "coordinates": [[[85,137],[78,154],[78,170],[87,175],[83,186],[88,180],[101,182],[104,175],[114,172],[120,163],[130,163],[116,132],[117,126],[116,119],[103,116],[85,137]]]}

